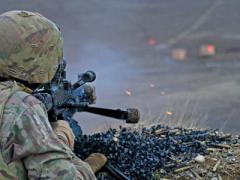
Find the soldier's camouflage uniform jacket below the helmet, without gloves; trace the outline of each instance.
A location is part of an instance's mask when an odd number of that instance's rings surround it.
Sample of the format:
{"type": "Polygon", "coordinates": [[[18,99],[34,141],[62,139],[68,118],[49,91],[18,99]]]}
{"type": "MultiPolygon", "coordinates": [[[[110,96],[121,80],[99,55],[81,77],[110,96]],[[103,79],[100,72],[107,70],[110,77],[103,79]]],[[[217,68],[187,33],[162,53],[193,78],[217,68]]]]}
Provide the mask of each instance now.
{"type": "Polygon", "coordinates": [[[21,89],[13,81],[0,83],[0,147],[10,171],[18,179],[95,179],[85,162],[74,165],[76,157],[58,141],[42,103],[21,89]]]}

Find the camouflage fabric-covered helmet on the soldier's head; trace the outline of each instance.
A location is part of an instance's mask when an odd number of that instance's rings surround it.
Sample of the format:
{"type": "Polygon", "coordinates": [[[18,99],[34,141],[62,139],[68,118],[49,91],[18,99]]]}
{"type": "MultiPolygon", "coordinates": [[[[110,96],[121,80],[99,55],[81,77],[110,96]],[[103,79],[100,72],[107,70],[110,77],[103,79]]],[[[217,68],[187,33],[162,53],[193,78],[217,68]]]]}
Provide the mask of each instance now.
{"type": "Polygon", "coordinates": [[[9,11],[0,15],[0,76],[46,83],[63,58],[58,27],[38,13],[9,11]]]}

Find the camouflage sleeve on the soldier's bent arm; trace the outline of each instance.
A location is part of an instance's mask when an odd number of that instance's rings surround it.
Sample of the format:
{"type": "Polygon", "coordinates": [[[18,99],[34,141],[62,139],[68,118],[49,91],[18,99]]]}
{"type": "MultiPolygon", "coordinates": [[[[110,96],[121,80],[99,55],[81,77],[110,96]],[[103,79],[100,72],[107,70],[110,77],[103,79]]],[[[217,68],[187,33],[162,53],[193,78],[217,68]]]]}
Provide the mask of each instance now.
{"type": "Polygon", "coordinates": [[[74,154],[58,141],[42,104],[29,104],[20,119],[14,126],[15,156],[24,159],[29,179],[95,179],[86,164],[85,171],[74,165],[74,154]]]}

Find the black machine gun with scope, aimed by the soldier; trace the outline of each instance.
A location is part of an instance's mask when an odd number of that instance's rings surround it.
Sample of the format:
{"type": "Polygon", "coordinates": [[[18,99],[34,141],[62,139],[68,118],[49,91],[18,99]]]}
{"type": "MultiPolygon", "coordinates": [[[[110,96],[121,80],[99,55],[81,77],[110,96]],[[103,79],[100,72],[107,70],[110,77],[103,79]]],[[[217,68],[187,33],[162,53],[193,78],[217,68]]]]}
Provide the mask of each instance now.
{"type": "Polygon", "coordinates": [[[95,87],[90,84],[96,79],[93,71],[78,75],[78,81],[71,83],[66,79],[66,62],[62,60],[58,70],[50,83],[44,84],[34,90],[33,95],[41,100],[48,110],[50,121],[63,119],[68,121],[75,136],[82,134],[81,127],[72,117],[76,112],[90,112],[116,119],[126,120],[126,123],[137,123],[139,111],[129,108],[127,110],[113,110],[90,107],[96,100],[95,87]]]}

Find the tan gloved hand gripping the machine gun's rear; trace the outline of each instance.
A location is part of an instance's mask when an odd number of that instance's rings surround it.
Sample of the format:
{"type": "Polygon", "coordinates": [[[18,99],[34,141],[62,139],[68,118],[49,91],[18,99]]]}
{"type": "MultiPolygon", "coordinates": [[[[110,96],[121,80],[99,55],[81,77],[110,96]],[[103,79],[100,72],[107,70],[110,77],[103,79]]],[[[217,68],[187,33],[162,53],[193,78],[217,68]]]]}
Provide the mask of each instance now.
{"type": "Polygon", "coordinates": [[[71,150],[73,150],[75,136],[69,124],[64,120],[58,120],[56,122],[52,122],[51,125],[59,141],[66,144],[71,150]]]}

